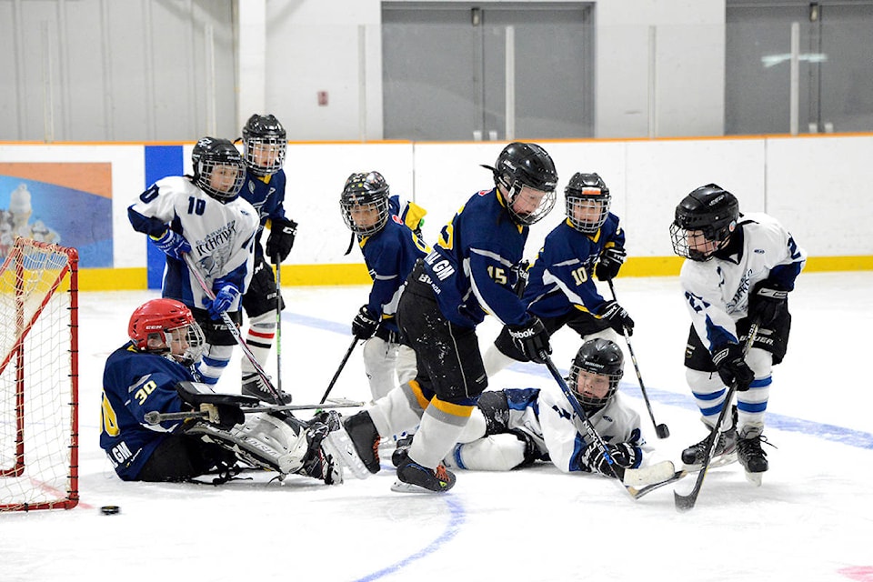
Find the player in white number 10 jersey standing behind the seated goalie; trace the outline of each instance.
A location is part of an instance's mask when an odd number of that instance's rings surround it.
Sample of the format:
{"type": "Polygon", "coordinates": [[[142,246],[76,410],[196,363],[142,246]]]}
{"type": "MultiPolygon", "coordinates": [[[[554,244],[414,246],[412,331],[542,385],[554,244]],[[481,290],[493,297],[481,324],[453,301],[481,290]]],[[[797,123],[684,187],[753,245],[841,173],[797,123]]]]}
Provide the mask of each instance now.
{"type": "Polygon", "coordinates": [[[158,180],[127,209],[136,231],[146,233],[166,253],[162,295],[191,308],[206,334],[206,351],[197,370],[215,385],[230,361],[236,339],[226,328],[226,312],[238,326],[240,295],[254,266],[258,226],[255,208],[238,196],[246,166],[226,139],[204,137],[191,155],[194,176],[158,180]],[[188,253],[206,279],[209,299],[183,259],[188,253]]]}

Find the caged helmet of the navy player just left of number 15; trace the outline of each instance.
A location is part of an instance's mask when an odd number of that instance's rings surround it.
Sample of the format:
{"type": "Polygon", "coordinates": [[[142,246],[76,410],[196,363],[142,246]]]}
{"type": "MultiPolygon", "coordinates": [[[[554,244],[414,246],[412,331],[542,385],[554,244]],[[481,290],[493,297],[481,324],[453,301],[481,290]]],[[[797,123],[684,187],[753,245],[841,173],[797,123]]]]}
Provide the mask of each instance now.
{"type": "Polygon", "coordinates": [[[348,176],[339,206],[346,226],[356,235],[370,236],[388,222],[388,183],[378,172],[348,176]]]}

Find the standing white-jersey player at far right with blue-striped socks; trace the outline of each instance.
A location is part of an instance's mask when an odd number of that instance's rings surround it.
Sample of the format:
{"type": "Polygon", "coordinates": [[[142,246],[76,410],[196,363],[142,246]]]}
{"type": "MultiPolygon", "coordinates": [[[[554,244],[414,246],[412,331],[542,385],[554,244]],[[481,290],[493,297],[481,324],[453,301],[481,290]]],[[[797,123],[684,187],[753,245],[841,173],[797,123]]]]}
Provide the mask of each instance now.
{"type": "MultiPolygon", "coordinates": [[[[716,456],[730,460],[738,454],[749,478],[759,482],[768,469],[761,435],[772,367],[788,346],[788,292],[806,253],[776,219],[740,214],[737,198],[715,184],[700,186],[679,203],[670,236],[674,252],[688,259],[679,276],[692,323],[688,386],[712,428],[726,404],[725,386],[737,384],[736,420],[725,415],[716,456]],[[742,343],[753,322],[760,326],[758,336],[744,356],[742,343]]],[[[706,455],[704,439],[685,449],[682,461],[699,468],[706,455]]]]}

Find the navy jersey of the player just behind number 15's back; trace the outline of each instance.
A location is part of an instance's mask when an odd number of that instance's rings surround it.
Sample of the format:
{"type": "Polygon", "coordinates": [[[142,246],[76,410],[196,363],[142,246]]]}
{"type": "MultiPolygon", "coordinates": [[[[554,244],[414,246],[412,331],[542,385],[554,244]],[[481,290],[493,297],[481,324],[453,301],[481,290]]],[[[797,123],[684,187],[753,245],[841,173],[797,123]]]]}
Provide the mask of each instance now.
{"type": "Polygon", "coordinates": [[[366,308],[382,326],[397,332],[395,315],[406,276],[430,249],[395,215],[376,235],[362,236],[358,245],[373,279],[366,308]]]}

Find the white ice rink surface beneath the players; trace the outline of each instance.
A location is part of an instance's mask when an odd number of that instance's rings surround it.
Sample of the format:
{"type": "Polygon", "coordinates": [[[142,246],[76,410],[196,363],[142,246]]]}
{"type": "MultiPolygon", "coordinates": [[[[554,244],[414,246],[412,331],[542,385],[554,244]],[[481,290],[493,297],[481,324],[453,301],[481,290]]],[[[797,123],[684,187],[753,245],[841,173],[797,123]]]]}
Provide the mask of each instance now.
{"type": "MultiPolygon", "coordinates": [[[[266,475],[220,487],[124,483],[98,447],[105,358],[155,292],[80,296],[80,495],[69,511],[0,514],[0,580],[773,580],[873,581],[873,273],[802,274],[790,296],[788,356],[775,368],[766,447],[753,487],[737,465],[707,474],[697,507],[677,513],[674,487],[632,500],[603,477],[547,464],[458,471],[443,496],[390,490],[393,467],[340,486],[266,475]],[[99,507],[121,512],[103,516],[99,507]]],[[[286,287],[282,386],[296,404],[324,393],[351,340],[368,287],[286,287]]],[[[608,295],[604,287],[602,292],[608,295]]],[[[685,384],[688,316],[676,278],[616,280],[636,320],[631,338],[658,440],[627,358],[621,389],[658,457],[679,464],[705,436],[685,384]]],[[[483,345],[497,335],[487,320],[483,345]]],[[[558,332],[566,371],[579,341],[558,332]]],[[[237,355],[239,351],[237,350],[237,355]]],[[[239,363],[219,389],[238,391],[239,363]]],[[[266,366],[275,374],[275,355],[266,366]]],[[[554,386],[545,366],[516,365],[492,388],[554,386]]],[[[357,348],[333,394],[366,400],[357,348]]],[[[301,417],[307,417],[301,414],[301,417]]],[[[386,455],[390,453],[386,449],[386,455]]],[[[246,476],[253,474],[247,473],[246,476]]],[[[676,485],[687,493],[693,477],[676,485]]]]}

